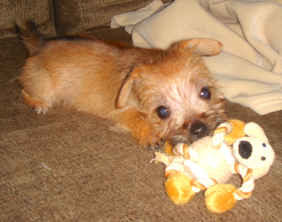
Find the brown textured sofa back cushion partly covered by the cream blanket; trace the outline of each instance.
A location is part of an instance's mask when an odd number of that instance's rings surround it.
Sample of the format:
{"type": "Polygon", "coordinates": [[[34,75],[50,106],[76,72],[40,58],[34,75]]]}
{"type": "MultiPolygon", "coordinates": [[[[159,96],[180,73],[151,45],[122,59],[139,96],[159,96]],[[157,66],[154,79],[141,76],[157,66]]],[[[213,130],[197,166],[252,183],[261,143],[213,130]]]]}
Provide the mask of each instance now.
{"type": "Polygon", "coordinates": [[[109,26],[114,15],[137,10],[149,2],[151,0],[56,0],[56,28],[60,35],[70,35],[93,27],[109,26]]]}

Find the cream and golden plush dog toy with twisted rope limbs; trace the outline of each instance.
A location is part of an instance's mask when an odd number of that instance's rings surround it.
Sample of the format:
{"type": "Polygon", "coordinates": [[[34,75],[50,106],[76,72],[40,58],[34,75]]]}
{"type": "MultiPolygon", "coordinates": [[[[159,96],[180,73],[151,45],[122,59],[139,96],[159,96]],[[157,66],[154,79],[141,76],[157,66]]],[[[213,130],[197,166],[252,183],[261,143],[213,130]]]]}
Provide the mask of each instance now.
{"type": "Polygon", "coordinates": [[[274,162],[274,151],[257,124],[231,119],[220,124],[213,136],[192,145],[165,146],[156,152],[163,163],[165,190],[175,203],[186,204],[195,193],[205,192],[205,204],[214,213],[232,209],[237,200],[251,196],[254,180],[264,176],[274,162]],[[233,174],[243,178],[240,188],[227,184],[233,174]]]}

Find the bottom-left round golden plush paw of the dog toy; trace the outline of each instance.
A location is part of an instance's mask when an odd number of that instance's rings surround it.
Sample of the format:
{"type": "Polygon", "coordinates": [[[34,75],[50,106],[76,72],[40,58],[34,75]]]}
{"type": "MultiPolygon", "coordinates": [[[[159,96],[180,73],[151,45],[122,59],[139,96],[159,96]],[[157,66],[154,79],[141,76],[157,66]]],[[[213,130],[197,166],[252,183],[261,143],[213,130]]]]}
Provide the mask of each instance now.
{"type": "Polygon", "coordinates": [[[184,173],[174,173],[165,181],[165,190],[170,200],[176,205],[188,203],[195,192],[192,191],[191,178],[184,173]]]}

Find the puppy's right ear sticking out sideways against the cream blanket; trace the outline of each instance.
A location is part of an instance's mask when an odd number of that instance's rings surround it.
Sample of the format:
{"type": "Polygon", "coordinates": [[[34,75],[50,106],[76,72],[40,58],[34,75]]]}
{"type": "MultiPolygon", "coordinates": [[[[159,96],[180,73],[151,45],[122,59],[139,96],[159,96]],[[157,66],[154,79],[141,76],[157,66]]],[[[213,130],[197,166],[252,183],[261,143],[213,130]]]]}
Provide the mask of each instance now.
{"type": "Polygon", "coordinates": [[[221,52],[223,45],[211,38],[194,38],[180,43],[180,48],[192,49],[199,55],[217,55],[221,52]]]}

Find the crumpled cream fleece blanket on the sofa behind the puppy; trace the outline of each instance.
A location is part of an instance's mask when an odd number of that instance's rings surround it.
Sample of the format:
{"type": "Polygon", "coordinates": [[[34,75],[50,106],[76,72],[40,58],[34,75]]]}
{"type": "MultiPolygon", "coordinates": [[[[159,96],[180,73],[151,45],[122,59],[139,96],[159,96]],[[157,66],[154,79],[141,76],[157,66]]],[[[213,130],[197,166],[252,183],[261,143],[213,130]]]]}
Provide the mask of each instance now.
{"type": "Polygon", "coordinates": [[[282,110],[282,0],[155,0],[112,18],[139,47],[167,48],[187,38],[214,38],[224,45],[205,57],[223,96],[263,115],[282,110]]]}

